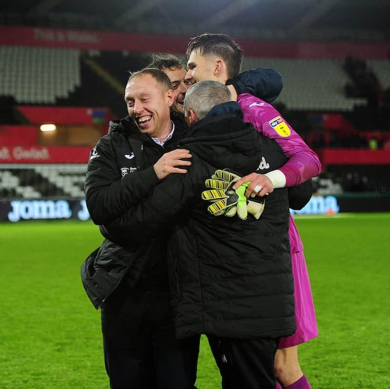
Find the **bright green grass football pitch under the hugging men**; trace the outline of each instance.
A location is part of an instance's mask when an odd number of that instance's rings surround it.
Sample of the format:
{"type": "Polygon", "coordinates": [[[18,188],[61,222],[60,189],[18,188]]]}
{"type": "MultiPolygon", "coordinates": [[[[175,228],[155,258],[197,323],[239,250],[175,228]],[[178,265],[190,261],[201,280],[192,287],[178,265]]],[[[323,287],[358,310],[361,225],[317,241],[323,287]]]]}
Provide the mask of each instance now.
{"type": "MultiPolygon", "coordinates": [[[[390,386],[390,214],[297,216],[320,336],[299,347],[313,389],[390,386]]],[[[0,224],[0,388],[109,388],[100,314],[79,276],[91,222],[0,224]]],[[[199,389],[220,388],[202,339],[199,389]]],[[[240,388],[237,388],[240,389],[240,388]]]]}

